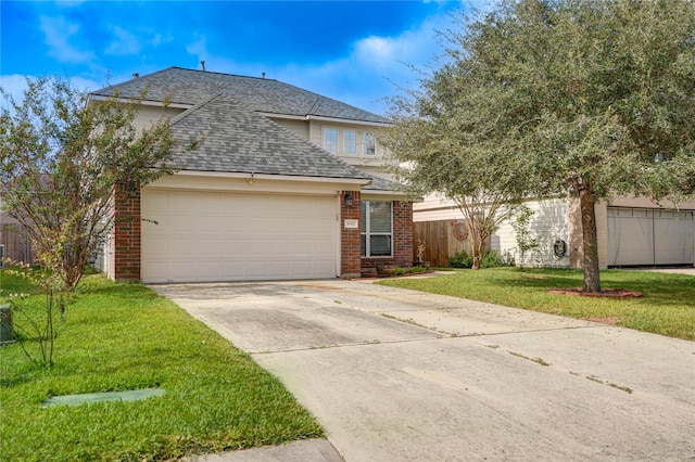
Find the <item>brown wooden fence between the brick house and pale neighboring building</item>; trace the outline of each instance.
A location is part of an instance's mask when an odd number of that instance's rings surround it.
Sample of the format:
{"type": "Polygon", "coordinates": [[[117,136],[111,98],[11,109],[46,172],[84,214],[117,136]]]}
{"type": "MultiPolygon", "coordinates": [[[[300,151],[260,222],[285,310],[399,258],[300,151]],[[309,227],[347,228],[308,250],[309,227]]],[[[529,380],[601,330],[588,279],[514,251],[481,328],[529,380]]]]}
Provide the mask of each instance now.
{"type": "Polygon", "coordinates": [[[464,220],[414,222],[413,261],[417,259],[420,243],[425,244],[425,261],[434,267],[447,267],[447,257],[453,257],[462,251],[470,254],[470,240],[464,220]]]}

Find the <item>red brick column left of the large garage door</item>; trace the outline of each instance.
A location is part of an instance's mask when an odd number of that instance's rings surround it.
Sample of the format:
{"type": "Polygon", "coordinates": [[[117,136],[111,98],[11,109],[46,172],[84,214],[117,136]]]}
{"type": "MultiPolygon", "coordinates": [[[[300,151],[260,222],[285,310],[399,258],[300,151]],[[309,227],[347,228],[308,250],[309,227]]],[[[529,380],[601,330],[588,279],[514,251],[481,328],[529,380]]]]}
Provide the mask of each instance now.
{"type": "Polygon", "coordinates": [[[115,196],[114,279],[140,281],[140,188],[118,187],[115,196]]]}

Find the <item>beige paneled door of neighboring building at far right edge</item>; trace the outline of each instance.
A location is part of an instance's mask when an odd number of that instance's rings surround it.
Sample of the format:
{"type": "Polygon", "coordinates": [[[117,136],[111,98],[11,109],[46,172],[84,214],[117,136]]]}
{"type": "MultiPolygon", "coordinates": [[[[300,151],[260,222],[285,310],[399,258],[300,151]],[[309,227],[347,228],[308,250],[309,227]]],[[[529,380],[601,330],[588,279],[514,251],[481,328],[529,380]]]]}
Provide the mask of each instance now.
{"type": "Polygon", "coordinates": [[[693,210],[608,208],[608,265],[693,265],[693,210]]]}

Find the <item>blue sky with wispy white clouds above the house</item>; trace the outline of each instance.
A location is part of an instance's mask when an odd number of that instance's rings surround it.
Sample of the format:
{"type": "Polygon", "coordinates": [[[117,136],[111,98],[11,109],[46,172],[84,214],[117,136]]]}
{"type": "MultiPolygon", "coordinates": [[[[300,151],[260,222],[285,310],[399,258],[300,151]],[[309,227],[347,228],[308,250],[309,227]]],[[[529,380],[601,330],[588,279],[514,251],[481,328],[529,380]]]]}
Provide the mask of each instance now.
{"type": "MultiPolygon", "coordinates": [[[[441,53],[458,1],[5,1],[0,84],[66,76],[80,88],[165,67],[278,79],[383,113],[441,53]]],[[[484,2],[475,1],[476,7],[484,2]]]]}

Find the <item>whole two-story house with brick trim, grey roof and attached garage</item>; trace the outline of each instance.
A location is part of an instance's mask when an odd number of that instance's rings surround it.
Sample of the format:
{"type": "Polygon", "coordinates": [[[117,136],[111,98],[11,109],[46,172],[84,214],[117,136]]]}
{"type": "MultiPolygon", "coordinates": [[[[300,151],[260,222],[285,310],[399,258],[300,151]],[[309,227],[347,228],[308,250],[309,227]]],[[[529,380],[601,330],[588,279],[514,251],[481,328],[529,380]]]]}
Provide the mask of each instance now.
{"type": "Polygon", "coordinates": [[[376,175],[383,158],[372,131],[384,118],[273,79],[178,67],[92,99],[146,89],[136,126],[166,114],[181,144],[203,141],[177,152],[179,172],[116,204],[117,217],[135,219],[118,220],[98,258],[109,277],[355,278],[412,264],[412,204],[376,175]]]}

